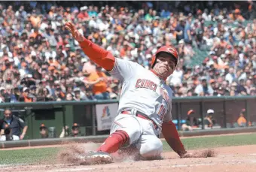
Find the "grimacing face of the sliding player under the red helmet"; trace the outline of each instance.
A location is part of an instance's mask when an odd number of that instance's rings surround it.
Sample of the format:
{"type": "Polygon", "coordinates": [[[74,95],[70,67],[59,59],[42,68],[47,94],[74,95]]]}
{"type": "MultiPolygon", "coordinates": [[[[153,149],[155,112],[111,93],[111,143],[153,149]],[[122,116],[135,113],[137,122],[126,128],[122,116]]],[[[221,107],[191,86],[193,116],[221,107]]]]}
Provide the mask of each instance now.
{"type": "Polygon", "coordinates": [[[169,77],[175,70],[175,60],[168,53],[160,53],[157,56],[156,65],[154,65],[154,71],[160,77],[169,77]]]}

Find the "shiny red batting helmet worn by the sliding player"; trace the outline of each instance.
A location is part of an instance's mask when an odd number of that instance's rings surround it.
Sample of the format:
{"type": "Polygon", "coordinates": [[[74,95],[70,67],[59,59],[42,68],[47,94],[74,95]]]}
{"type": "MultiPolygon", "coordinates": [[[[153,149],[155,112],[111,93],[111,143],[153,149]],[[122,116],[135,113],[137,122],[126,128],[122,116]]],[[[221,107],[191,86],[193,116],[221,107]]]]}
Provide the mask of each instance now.
{"type": "Polygon", "coordinates": [[[161,53],[161,52],[164,52],[164,53],[169,53],[174,59],[175,59],[175,67],[178,63],[178,51],[175,49],[175,47],[172,47],[172,46],[163,46],[163,47],[160,47],[160,49],[157,50],[157,53],[154,54],[154,56],[152,57],[152,60],[151,60],[151,68],[154,67],[154,65],[156,64],[157,62],[157,54],[158,53],[161,53]]]}

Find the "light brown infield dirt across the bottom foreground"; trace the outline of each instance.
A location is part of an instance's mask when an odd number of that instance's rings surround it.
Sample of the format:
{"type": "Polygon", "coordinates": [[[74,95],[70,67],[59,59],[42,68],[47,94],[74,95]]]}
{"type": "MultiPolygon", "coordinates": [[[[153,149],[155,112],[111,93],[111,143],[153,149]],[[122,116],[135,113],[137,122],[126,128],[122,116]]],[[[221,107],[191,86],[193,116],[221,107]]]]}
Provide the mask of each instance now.
{"type": "MultiPolygon", "coordinates": [[[[190,152],[199,152],[195,150],[190,152]]],[[[217,155],[212,158],[178,158],[174,152],[164,152],[163,160],[155,161],[123,161],[103,165],[72,165],[72,164],[36,164],[0,166],[0,171],[38,171],[38,172],[63,172],[63,171],[255,171],[256,145],[230,146],[216,148],[217,155]]]]}

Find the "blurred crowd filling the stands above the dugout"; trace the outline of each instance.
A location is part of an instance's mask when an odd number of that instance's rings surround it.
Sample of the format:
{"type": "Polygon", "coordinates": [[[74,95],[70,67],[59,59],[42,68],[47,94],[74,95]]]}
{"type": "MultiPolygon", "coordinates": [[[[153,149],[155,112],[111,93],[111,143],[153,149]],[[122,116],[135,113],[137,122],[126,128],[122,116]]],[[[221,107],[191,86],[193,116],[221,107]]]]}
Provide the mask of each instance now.
{"type": "Polygon", "coordinates": [[[99,3],[1,2],[0,101],[119,98],[119,81],[88,59],[67,21],[148,69],[158,47],[174,45],[180,60],[166,82],[175,97],[255,95],[255,2],[99,3]],[[194,50],[208,52],[195,66],[194,50]]]}

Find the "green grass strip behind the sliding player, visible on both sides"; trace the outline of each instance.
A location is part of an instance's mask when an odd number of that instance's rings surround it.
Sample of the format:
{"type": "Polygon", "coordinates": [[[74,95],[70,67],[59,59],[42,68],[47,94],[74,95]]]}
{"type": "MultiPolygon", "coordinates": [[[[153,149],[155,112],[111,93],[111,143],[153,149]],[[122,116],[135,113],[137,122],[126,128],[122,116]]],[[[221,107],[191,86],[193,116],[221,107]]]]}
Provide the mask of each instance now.
{"type": "MultiPolygon", "coordinates": [[[[186,149],[215,148],[221,146],[239,146],[256,144],[256,134],[241,134],[215,137],[197,137],[182,139],[186,149]]],[[[1,150],[0,164],[34,164],[41,161],[51,161],[61,148],[1,150]]],[[[170,151],[163,141],[164,151],[170,151]]]]}

